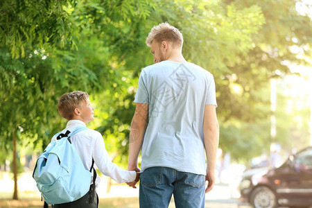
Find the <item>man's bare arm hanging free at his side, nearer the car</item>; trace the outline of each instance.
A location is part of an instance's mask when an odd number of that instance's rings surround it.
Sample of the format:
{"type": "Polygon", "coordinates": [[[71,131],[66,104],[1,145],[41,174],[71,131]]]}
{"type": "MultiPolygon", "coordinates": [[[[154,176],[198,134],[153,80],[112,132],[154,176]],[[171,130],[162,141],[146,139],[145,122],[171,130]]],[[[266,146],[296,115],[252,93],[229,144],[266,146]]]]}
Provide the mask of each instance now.
{"type": "Polygon", "coordinates": [[[208,186],[206,188],[206,193],[211,191],[214,187],[215,176],[214,171],[216,168],[216,152],[219,144],[219,125],[216,116],[216,106],[215,105],[205,105],[204,112],[204,144],[207,157],[207,175],[206,180],[208,181],[208,186]]]}

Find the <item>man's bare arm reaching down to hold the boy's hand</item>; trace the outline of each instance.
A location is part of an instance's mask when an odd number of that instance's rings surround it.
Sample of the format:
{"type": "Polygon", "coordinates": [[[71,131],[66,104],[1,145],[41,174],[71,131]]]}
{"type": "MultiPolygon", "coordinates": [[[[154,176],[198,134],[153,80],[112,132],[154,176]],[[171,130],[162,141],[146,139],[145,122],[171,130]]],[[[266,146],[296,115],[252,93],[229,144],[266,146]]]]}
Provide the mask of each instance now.
{"type": "MultiPolygon", "coordinates": [[[[140,171],[137,158],[143,144],[147,125],[148,104],[137,103],[130,127],[128,171],[140,171]]],[[[135,187],[135,184],[129,184],[129,186],[135,187]]]]}

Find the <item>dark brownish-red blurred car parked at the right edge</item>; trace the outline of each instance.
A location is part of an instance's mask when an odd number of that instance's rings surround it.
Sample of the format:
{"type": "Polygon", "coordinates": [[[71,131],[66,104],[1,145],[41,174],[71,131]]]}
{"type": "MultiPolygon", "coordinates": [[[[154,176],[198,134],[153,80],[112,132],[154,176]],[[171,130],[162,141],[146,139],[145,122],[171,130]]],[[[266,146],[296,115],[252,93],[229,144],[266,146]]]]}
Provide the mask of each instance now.
{"type": "Polygon", "coordinates": [[[279,168],[246,175],[241,200],[256,208],[312,207],[312,146],[288,157],[279,168]]]}

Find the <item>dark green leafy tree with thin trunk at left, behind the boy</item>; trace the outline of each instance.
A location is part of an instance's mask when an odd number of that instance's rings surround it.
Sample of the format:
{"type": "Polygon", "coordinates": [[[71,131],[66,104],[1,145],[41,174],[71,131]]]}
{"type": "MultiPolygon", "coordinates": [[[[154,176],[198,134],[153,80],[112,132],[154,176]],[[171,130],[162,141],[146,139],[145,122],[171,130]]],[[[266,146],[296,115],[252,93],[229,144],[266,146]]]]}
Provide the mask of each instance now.
{"type": "Polygon", "coordinates": [[[1,1],[0,137],[1,148],[13,150],[14,199],[18,198],[19,140],[26,138],[44,148],[64,126],[56,110],[61,94],[77,89],[97,92],[109,86],[106,83],[116,76],[118,54],[111,46],[123,42],[116,36],[125,22],[146,17],[150,4],[1,1]]]}

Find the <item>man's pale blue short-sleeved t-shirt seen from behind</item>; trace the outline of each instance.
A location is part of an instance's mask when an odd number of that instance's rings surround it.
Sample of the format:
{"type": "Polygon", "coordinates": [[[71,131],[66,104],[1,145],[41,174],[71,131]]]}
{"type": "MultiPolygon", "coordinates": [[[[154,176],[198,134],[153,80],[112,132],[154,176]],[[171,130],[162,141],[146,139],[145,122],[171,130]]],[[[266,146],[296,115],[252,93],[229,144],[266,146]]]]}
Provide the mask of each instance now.
{"type": "Polygon", "coordinates": [[[211,73],[189,62],[162,61],[141,71],[135,103],[148,104],[141,171],[165,166],[206,175],[205,105],[216,105],[211,73]]]}

